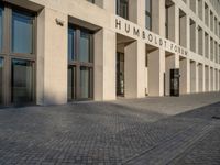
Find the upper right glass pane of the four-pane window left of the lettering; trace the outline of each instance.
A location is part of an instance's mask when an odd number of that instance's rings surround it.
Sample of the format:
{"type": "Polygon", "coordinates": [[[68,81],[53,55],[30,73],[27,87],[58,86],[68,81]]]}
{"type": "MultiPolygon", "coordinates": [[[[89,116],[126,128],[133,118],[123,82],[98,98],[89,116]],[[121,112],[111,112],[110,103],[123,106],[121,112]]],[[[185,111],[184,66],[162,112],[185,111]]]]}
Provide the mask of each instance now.
{"type": "Polygon", "coordinates": [[[80,62],[90,62],[90,34],[87,32],[80,33],[79,52],[80,62]]]}

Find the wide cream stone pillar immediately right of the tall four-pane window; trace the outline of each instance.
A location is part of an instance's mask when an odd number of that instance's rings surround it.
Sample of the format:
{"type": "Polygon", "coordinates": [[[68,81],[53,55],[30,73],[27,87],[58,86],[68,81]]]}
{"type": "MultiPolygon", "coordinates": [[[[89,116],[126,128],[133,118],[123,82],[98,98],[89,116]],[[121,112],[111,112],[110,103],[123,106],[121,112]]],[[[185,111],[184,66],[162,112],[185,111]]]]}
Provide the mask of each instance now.
{"type": "Polygon", "coordinates": [[[100,30],[95,34],[95,100],[116,99],[116,33],[100,30]]]}

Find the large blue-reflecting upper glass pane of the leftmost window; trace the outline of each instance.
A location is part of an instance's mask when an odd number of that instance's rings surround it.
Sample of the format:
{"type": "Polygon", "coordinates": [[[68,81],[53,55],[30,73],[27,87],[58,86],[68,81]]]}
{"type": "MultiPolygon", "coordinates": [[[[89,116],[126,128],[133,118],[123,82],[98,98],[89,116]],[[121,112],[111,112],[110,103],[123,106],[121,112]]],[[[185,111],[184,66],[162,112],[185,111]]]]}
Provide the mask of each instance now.
{"type": "Polygon", "coordinates": [[[33,53],[33,18],[16,11],[12,12],[12,52],[33,53]]]}

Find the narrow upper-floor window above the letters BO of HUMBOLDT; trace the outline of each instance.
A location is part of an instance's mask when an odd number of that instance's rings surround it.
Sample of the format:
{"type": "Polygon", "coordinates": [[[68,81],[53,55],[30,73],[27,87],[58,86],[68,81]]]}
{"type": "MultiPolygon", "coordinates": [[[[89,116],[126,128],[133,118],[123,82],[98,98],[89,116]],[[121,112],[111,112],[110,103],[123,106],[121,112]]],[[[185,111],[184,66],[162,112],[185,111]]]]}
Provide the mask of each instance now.
{"type": "Polygon", "coordinates": [[[152,30],[152,0],[145,0],[145,28],[152,30]]]}

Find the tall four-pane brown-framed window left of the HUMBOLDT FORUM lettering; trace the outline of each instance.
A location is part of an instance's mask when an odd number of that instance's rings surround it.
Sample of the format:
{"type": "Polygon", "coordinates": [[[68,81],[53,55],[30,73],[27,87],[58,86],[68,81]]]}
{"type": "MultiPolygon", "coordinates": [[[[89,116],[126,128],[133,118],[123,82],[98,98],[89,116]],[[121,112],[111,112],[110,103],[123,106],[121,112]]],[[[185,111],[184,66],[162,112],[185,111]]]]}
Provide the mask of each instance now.
{"type": "Polygon", "coordinates": [[[92,98],[92,33],[69,25],[68,100],[92,98]]]}

